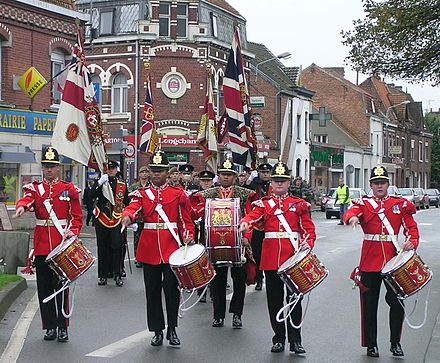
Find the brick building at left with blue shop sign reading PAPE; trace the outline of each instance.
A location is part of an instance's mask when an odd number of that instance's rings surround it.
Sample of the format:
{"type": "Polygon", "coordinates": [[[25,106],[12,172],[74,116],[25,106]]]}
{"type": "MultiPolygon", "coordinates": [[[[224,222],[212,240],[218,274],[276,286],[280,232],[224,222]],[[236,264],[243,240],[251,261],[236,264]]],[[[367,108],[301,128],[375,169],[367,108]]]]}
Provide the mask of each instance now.
{"type": "MultiPolygon", "coordinates": [[[[73,0],[0,0],[0,199],[13,205],[21,186],[41,178],[41,149],[49,145],[60,93],[51,82],[30,99],[17,80],[34,66],[50,80],[70,59],[75,42],[73,0]]],[[[63,159],[63,178],[78,182],[63,159]]]]}

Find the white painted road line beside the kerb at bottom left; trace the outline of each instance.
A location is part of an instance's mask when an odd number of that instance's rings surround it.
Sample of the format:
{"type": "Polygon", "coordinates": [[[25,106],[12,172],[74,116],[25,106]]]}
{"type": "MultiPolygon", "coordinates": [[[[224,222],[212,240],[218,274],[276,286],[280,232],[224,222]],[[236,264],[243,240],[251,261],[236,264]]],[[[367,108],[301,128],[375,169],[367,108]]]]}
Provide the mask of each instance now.
{"type": "Polygon", "coordinates": [[[38,296],[35,293],[21,314],[20,319],[18,319],[17,324],[15,324],[8,345],[0,357],[0,363],[15,363],[17,361],[37,310],[38,296]]]}

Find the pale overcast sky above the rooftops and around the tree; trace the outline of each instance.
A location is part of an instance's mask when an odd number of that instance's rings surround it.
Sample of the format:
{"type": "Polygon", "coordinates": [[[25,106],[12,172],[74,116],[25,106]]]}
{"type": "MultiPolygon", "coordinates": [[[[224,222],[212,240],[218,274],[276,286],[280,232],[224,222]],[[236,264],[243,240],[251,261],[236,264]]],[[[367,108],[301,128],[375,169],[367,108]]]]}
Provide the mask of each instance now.
{"type": "MultiPolygon", "coordinates": [[[[247,20],[248,40],[263,43],[275,54],[292,53],[286,66],[303,68],[311,63],[320,67],[344,66],[348,48],[341,43],[341,30],[364,17],[361,0],[227,0],[247,20]]],[[[356,73],[345,67],[345,77],[356,83],[356,73]]],[[[362,82],[366,76],[360,76],[362,82]]],[[[440,87],[409,84],[386,79],[403,86],[423,109],[440,109],[440,87]]]]}

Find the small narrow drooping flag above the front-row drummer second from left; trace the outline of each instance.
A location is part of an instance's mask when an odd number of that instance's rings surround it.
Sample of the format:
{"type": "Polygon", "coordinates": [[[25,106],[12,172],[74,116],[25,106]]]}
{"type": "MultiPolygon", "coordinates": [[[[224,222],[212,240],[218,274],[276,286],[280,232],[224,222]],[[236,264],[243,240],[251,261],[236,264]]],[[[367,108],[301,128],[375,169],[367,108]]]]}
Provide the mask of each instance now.
{"type": "Polygon", "coordinates": [[[141,141],[139,143],[139,150],[146,153],[154,153],[159,138],[157,136],[156,127],[154,125],[154,109],[153,96],[151,95],[151,80],[150,76],[147,79],[147,90],[145,92],[144,112],[141,126],[141,141]]]}

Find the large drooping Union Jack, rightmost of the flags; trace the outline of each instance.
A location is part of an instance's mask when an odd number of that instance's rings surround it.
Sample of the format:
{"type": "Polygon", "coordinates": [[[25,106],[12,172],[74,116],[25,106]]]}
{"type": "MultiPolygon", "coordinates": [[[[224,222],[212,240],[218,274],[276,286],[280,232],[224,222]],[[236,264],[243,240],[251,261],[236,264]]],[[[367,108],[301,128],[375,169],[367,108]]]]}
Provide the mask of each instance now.
{"type": "Polygon", "coordinates": [[[241,55],[238,29],[234,32],[223,79],[223,96],[228,115],[229,146],[234,163],[253,168],[257,145],[250,115],[249,92],[241,55]]]}

